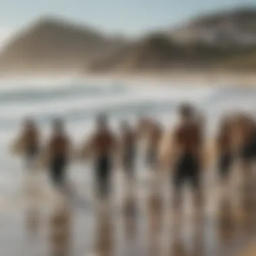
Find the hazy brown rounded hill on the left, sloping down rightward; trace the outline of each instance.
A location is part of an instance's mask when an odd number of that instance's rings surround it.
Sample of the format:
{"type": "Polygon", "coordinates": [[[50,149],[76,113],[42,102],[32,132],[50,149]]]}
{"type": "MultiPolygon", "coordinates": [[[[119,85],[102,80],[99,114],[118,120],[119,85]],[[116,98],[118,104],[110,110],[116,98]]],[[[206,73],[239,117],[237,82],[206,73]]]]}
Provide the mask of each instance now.
{"type": "Polygon", "coordinates": [[[2,72],[77,71],[92,58],[111,52],[123,40],[46,17],[11,38],[0,54],[2,72]]]}

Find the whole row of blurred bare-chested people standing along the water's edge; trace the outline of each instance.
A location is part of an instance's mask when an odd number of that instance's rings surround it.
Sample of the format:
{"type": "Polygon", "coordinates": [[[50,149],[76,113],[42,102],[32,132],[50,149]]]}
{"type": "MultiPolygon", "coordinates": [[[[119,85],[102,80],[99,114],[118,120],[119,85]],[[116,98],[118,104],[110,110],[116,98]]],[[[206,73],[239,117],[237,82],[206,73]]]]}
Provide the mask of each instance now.
{"type": "Polygon", "coordinates": [[[201,173],[207,168],[206,162],[213,163],[209,160],[217,163],[222,180],[228,179],[234,160],[240,160],[243,173],[252,171],[256,158],[256,123],[248,113],[232,113],[222,117],[213,140],[208,139],[205,118],[194,106],[181,104],[177,114],[179,123],[170,133],[158,121],[142,117],[136,127],[123,121],[121,136],[110,129],[106,115],[100,114],[96,118],[95,131],[77,151],[73,150],[61,119],[53,121],[53,131],[45,147],[41,146],[35,121],[26,119],[11,150],[24,156],[28,168],[38,160],[44,162],[51,181],[58,186],[63,185],[73,157],[76,160],[90,158],[94,162],[96,191],[100,196],[106,196],[111,187],[110,178],[116,157],[127,177],[133,179],[139,141],[145,141],[146,165],[156,172],[164,168],[172,172],[175,205],[181,202],[181,189],[186,182],[193,188],[196,201],[201,203],[201,173]],[[170,136],[166,136],[167,133],[170,136]],[[210,145],[209,141],[214,141],[214,145],[210,145]],[[214,156],[213,152],[216,153],[214,156]]]}

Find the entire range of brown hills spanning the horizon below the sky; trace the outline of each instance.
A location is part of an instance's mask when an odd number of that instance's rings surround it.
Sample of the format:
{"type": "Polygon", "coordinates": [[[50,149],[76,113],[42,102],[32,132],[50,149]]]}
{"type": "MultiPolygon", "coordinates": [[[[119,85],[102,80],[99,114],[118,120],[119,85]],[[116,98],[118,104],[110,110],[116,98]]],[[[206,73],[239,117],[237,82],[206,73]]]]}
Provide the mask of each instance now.
{"type": "Polygon", "coordinates": [[[25,28],[0,53],[5,73],[160,72],[239,69],[255,65],[256,9],[195,18],[136,41],[46,17],[25,28]]]}

